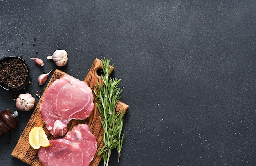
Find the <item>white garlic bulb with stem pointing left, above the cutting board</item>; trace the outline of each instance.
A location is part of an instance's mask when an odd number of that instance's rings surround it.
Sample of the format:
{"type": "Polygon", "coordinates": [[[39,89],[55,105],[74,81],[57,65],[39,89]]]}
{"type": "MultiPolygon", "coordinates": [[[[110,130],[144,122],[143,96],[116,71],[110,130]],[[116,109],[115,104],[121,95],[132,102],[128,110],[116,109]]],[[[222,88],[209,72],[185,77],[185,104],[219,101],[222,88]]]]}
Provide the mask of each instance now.
{"type": "Polygon", "coordinates": [[[67,64],[67,51],[56,50],[52,56],[48,56],[47,59],[52,59],[57,66],[65,66],[67,64]]]}

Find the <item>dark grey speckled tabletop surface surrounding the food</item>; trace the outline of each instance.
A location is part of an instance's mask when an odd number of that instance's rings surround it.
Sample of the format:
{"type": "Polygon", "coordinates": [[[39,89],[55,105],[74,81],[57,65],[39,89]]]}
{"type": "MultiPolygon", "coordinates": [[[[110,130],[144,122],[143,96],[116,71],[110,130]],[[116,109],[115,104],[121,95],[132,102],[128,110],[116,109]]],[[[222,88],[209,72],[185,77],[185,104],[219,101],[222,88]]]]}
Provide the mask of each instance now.
{"type": "MultiPolygon", "coordinates": [[[[255,166],[255,49],[254,0],[0,0],[0,58],[23,55],[32,72],[22,93],[46,87],[43,71],[83,80],[95,58],[112,58],[130,107],[110,166],[255,166]],[[46,60],[57,49],[67,66],[46,60]]],[[[0,89],[1,110],[12,95],[0,89]]],[[[32,112],[0,138],[1,166],[27,166],[11,152],[32,112]]]]}

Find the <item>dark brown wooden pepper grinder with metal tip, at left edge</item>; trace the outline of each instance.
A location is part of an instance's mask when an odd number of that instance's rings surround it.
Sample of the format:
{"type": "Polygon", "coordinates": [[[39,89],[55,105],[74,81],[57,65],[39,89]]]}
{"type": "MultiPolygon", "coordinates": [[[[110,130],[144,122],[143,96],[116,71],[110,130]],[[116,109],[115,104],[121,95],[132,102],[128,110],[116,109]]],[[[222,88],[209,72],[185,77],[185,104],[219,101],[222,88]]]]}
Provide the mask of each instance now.
{"type": "Polygon", "coordinates": [[[18,120],[16,118],[18,112],[11,113],[9,109],[4,110],[0,114],[0,137],[5,133],[9,133],[12,129],[18,126],[18,120]]]}

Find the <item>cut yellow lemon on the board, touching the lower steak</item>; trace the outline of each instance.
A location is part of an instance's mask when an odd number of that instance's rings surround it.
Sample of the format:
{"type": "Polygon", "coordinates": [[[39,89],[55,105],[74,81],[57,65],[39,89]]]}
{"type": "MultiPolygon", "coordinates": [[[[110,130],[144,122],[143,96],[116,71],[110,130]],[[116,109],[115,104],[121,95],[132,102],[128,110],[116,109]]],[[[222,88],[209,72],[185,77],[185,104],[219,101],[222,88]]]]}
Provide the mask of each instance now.
{"type": "Polygon", "coordinates": [[[34,149],[39,149],[40,146],[47,147],[51,145],[42,127],[31,129],[29,132],[29,144],[34,149]]]}

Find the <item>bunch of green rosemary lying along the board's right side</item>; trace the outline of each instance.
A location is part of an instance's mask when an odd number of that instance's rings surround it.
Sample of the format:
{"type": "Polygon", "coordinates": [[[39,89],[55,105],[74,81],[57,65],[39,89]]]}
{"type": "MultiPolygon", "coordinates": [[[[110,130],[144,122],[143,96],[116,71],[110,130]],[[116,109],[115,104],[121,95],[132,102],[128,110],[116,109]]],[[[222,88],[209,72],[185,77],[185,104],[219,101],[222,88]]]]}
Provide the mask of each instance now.
{"type": "Polygon", "coordinates": [[[94,98],[94,100],[96,101],[96,105],[101,114],[101,124],[104,129],[104,133],[101,133],[104,146],[98,153],[98,155],[103,154],[104,166],[108,166],[111,151],[115,148],[117,148],[118,151],[119,162],[124,140],[124,133],[121,136],[124,109],[121,114],[116,112],[117,103],[122,92],[122,90],[117,87],[121,82],[121,79],[110,77],[110,71],[114,65],[113,64],[111,68],[109,68],[110,60],[111,59],[102,59],[103,64],[101,64],[101,67],[103,74],[101,73],[101,79],[103,80],[103,85],[100,85],[99,82],[97,82],[94,89],[94,94],[97,97],[94,98]]]}

